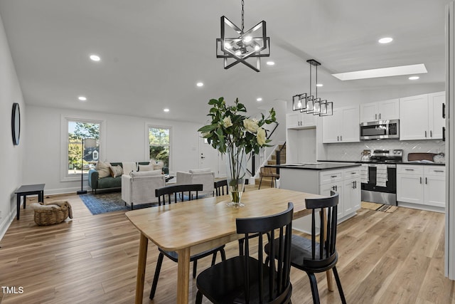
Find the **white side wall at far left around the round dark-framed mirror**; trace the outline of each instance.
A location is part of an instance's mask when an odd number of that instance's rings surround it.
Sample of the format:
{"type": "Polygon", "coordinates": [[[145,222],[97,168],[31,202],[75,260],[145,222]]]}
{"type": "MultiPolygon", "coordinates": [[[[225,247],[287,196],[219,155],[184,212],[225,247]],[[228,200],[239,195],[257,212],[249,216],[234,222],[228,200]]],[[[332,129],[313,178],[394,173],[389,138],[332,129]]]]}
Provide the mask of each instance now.
{"type": "Polygon", "coordinates": [[[6,41],[3,22],[0,18],[0,159],[2,177],[0,182],[0,239],[16,216],[16,195],[14,192],[22,184],[22,158],[26,151],[24,130],[26,107],[16,69],[6,41]],[[21,138],[14,146],[11,137],[11,111],[13,103],[21,109],[21,138]]]}

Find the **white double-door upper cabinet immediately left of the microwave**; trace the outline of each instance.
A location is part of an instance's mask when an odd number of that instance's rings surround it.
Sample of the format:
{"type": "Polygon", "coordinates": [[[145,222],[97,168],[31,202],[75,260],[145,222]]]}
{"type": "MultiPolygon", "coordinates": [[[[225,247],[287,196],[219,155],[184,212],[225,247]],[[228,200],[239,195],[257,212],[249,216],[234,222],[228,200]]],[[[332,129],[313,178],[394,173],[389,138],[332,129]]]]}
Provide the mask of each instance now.
{"type": "Polygon", "coordinates": [[[322,142],[360,142],[359,107],[333,109],[333,115],[321,117],[322,142]]]}

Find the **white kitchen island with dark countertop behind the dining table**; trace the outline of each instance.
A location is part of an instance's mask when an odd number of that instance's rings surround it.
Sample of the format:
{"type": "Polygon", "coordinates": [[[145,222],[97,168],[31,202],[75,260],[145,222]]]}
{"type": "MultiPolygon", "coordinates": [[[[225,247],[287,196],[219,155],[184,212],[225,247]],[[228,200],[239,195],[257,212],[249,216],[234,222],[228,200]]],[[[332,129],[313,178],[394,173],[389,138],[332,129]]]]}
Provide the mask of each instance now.
{"type": "MultiPolygon", "coordinates": [[[[265,167],[279,168],[279,187],[300,192],[329,196],[338,192],[338,223],[355,216],[360,209],[360,164],[354,162],[314,162],[279,164],[265,167]]],[[[293,201],[305,204],[304,201],[293,201]]],[[[309,233],[311,221],[306,218],[293,222],[293,228],[309,233]]]]}

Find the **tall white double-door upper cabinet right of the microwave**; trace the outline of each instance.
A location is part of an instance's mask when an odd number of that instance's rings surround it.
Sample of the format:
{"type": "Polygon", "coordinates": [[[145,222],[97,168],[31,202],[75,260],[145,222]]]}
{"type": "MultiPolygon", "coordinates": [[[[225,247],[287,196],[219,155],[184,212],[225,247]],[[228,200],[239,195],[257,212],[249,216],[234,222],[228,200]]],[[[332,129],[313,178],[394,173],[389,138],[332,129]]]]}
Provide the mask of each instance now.
{"type": "Polygon", "coordinates": [[[445,92],[400,98],[400,140],[440,140],[445,92]]]}

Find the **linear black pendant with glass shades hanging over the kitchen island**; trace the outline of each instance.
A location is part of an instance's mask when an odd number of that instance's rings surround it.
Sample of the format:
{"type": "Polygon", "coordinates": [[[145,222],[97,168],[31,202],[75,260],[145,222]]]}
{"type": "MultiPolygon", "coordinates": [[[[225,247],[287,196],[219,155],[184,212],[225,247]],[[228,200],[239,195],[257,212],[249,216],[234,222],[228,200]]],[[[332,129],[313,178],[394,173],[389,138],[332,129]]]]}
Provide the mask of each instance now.
{"type": "Polygon", "coordinates": [[[321,65],[321,63],[314,59],[309,59],[306,62],[310,64],[310,93],[301,93],[292,96],[292,110],[319,116],[333,115],[333,103],[328,102],[327,100],[321,100],[321,98],[318,97],[318,66],[321,65]],[[315,95],[311,94],[311,75],[313,66],[316,70],[315,95]]]}

